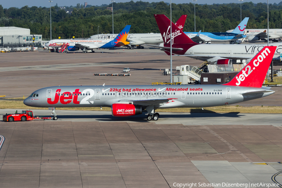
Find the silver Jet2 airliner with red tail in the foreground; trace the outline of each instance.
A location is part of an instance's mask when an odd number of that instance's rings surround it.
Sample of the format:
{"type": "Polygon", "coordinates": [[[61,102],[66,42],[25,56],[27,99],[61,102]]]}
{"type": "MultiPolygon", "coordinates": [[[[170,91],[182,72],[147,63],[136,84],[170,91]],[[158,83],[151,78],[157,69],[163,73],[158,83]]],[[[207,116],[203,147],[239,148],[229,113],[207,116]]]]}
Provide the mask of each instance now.
{"type": "MultiPolygon", "coordinates": [[[[177,33],[175,33],[177,35],[177,33]]],[[[269,96],[262,87],[276,46],[264,47],[233,78],[222,85],[53,86],[34,91],[24,100],[31,107],[111,107],[112,115],[126,117],[148,112],[158,120],[158,108],[214,107],[269,96]]]]}

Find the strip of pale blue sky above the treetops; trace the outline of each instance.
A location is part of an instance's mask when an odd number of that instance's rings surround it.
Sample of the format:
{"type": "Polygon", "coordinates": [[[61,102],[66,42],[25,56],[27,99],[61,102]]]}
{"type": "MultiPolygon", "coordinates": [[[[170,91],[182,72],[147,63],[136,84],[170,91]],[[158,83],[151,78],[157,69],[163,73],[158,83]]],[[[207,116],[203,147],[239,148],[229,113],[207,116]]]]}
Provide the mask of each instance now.
{"type": "MultiPolygon", "coordinates": [[[[115,0],[116,3],[125,3],[125,2],[129,2],[130,0],[115,0]]],[[[160,2],[159,0],[144,0],[145,2],[160,2]]],[[[166,3],[170,3],[170,0],[163,0],[166,3]]],[[[244,0],[243,2],[250,2],[252,1],[253,3],[267,3],[267,0],[261,1],[261,0],[244,0]]],[[[269,3],[280,3],[282,0],[269,0],[269,3]]],[[[76,6],[77,3],[83,3],[87,2],[88,4],[95,6],[98,5],[100,6],[101,4],[110,4],[110,0],[104,0],[104,1],[98,1],[98,0],[60,0],[60,1],[56,1],[53,0],[53,2],[51,2],[51,6],[55,6],[56,3],[58,3],[58,6],[76,6]]],[[[136,0],[134,0],[134,2],[136,2],[136,0]]],[[[171,3],[193,3],[192,0],[171,0],[171,3]]],[[[213,4],[213,3],[240,3],[238,0],[197,0],[198,4],[213,4]]],[[[1,1],[0,4],[2,4],[2,6],[4,8],[10,8],[10,7],[17,7],[17,8],[22,8],[26,5],[28,5],[29,7],[32,6],[36,6],[36,7],[50,7],[50,3],[48,0],[39,0],[39,1],[34,1],[34,0],[13,0],[13,1],[1,1]]]]}

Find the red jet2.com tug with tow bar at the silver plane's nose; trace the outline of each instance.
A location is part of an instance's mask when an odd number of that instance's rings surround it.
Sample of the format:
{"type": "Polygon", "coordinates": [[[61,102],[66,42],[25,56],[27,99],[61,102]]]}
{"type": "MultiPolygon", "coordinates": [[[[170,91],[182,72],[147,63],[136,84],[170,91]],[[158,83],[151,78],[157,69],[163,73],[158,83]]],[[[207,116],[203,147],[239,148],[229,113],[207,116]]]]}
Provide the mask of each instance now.
{"type": "Polygon", "coordinates": [[[49,118],[40,118],[34,117],[33,112],[30,110],[23,110],[22,113],[15,114],[5,114],[3,115],[3,121],[13,122],[13,121],[26,121],[26,120],[34,120],[34,119],[53,119],[57,120],[58,117],[49,117],[49,118]]]}

